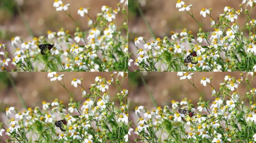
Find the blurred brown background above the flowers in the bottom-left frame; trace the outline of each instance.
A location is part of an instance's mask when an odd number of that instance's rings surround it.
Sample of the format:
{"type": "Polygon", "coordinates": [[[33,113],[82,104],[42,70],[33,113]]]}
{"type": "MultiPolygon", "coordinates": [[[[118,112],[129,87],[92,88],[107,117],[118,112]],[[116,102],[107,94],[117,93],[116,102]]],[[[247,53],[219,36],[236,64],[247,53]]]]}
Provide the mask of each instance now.
{"type": "MultiPolygon", "coordinates": [[[[6,107],[15,107],[22,109],[22,104],[13,89],[6,72],[0,73],[0,112],[5,114],[6,107]]],[[[50,81],[47,77],[48,72],[12,72],[12,78],[15,82],[18,92],[24,98],[27,107],[42,107],[42,101],[52,102],[55,98],[62,100],[67,106],[70,96],[63,86],[58,81],[50,81]]],[[[91,84],[95,83],[95,77],[101,76],[106,80],[111,79],[112,72],[57,72],[57,74],[64,74],[65,86],[73,93],[75,101],[83,102],[81,87],[75,88],[71,85],[73,78],[83,78],[83,87],[89,92],[91,84]]],[[[116,75],[116,74],[115,74],[116,75]]],[[[116,76],[114,76],[116,78],[116,76]]],[[[61,80],[63,83],[63,80],[61,80]]],[[[128,77],[125,77],[123,84],[124,89],[128,89],[128,77]]],[[[109,86],[110,96],[116,96],[117,89],[115,86],[109,86]]]]}

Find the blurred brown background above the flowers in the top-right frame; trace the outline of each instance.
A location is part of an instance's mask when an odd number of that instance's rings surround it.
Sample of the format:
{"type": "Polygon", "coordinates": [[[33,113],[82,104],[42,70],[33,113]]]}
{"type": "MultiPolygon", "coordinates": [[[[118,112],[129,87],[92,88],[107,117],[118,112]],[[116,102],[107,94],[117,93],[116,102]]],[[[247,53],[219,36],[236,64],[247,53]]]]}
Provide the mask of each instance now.
{"type": "MultiPolygon", "coordinates": [[[[147,29],[140,13],[136,8],[136,1],[146,1],[146,5],[141,9],[146,16],[149,25],[153,29],[156,37],[168,36],[170,31],[181,32],[184,28],[192,31],[195,35],[198,32],[198,25],[188,15],[186,11],[179,12],[176,8],[177,0],[129,0],[129,40],[133,41],[137,36],[143,36],[146,39],[153,40],[149,30],[147,29]]],[[[195,18],[202,23],[204,31],[211,31],[210,17],[206,18],[200,15],[202,8],[212,8],[212,16],[215,20],[219,14],[224,12],[225,6],[233,7],[239,10],[239,4],[242,0],[183,0],[186,5],[193,5],[193,13],[195,18]]],[[[251,7],[249,6],[249,9],[251,7]]],[[[191,12],[191,11],[190,11],[191,12]]],[[[256,18],[256,10],[252,11],[252,18],[256,18]]],[[[246,22],[243,16],[238,16],[241,24],[246,22]]]]}

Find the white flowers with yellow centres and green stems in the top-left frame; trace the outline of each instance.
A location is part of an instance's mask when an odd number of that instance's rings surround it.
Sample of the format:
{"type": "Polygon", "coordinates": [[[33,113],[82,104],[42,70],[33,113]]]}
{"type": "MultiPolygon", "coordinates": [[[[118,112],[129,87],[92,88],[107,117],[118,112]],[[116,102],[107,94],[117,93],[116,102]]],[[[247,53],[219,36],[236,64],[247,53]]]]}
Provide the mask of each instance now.
{"type": "MultiPolygon", "coordinates": [[[[124,3],[125,6],[128,2],[120,1],[120,3],[124,3]]],[[[125,71],[128,61],[128,36],[123,34],[121,29],[127,28],[127,21],[122,23],[122,28],[116,23],[116,15],[123,15],[122,10],[125,10],[125,7],[121,8],[120,3],[116,9],[102,6],[95,21],[89,16],[89,8],[80,7],[77,14],[88,17],[89,30],[81,31],[77,25],[74,38],[64,28],[60,28],[57,32],[48,31],[47,38],[39,36],[34,37],[32,41],[23,41],[21,37],[15,36],[12,38],[12,47],[15,48],[12,58],[9,57],[12,53],[8,51],[6,44],[0,43],[0,48],[3,47],[5,51],[1,51],[0,55],[6,56],[0,61],[2,70],[6,70],[12,60],[12,64],[22,71],[125,71]],[[53,45],[52,48],[48,47],[52,56],[40,54],[42,49],[39,49],[39,45],[46,43],[53,45]],[[50,64],[58,65],[54,66],[57,69],[48,65],[48,61],[53,61],[50,64]],[[116,63],[122,63],[123,66],[116,63]]],[[[53,6],[57,11],[64,10],[68,16],[71,16],[67,11],[70,4],[55,0],[53,6]]]]}

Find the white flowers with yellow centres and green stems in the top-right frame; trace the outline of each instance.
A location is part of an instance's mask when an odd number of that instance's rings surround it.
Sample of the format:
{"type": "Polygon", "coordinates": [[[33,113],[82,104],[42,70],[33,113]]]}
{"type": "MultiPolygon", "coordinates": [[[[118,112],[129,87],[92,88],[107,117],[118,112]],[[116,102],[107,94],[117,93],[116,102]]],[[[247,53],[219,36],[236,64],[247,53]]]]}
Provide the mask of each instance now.
{"type": "MultiPolygon", "coordinates": [[[[247,1],[247,6],[250,5],[253,8],[252,3],[253,0],[247,1]]],[[[184,1],[177,0],[176,7],[179,11],[186,10],[194,18],[191,4],[186,5],[184,1]]],[[[244,28],[241,29],[241,26],[238,25],[238,15],[242,15],[242,12],[247,13],[248,10],[246,7],[243,8],[243,4],[240,7],[241,9],[237,11],[229,6],[224,7],[224,13],[220,14],[218,18],[219,23],[211,16],[212,9],[202,8],[200,15],[211,18],[213,31],[204,32],[202,28],[199,28],[199,32],[196,34],[197,38],[187,29],[180,33],[172,31],[170,37],[156,38],[152,42],[147,42],[142,36],[136,37],[134,44],[138,49],[137,55],[132,54],[128,65],[131,66],[133,63],[139,70],[146,71],[155,71],[156,69],[161,71],[256,70],[255,62],[253,62],[256,55],[254,42],[256,36],[252,30],[256,25],[256,20],[248,17],[249,20],[244,27],[249,32],[245,34],[244,28]],[[184,63],[184,59],[192,51],[196,52],[197,64],[184,63]],[[247,69],[241,69],[240,63],[247,63],[246,66],[249,66],[246,67],[247,69]]]]}

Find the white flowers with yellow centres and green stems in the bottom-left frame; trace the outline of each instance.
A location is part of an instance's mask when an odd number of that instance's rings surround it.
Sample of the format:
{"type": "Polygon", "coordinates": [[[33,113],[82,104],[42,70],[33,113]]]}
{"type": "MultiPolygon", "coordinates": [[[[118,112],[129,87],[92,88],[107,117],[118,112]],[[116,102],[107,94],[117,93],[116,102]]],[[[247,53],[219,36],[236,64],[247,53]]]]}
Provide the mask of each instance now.
{"type": "MultiPolygon", "coordinates": [[[[113,73],[116,74],[116,80],[119,77],[123,78],[127,76],[126,72],[113,73]]],[[[58,80],[61,81],[64,78],[64,74],[59,76],[56,72],[49,72],[48,77],[51,81],[58,80]]],[[[57,139],[61,141],[79,141],[83,143],[93,143],[93,142],[107,142],[112,137],[104,137],[107,134],[114,131],[119,137],[119,140],[127,142],[127,132],[125,128],[128,128],[128,107],[127,105],[120,102],[120,106],[115,106],[114,100],[109,96],[109,85],[114,85],[112,79],[106,80],[101,76],[95,78],[95,83],[91,84],[91,93],[86,93],[86,99],[80,104],[80,102],[74,102],[74,99],[70,99],[68,103],[68,110],[66,110],[63,101],[55,99],[53,102],[42,102],[41,107],[36,107],[34,109],[28,108],[23,112],[18,112],[18,109],[14,107],[6,108],[6,116],[10,119],[9,126],[6,128],[0,127],[0,136],[3,136],[5,132],[10,138],[14,135],[18,137],[18,141],[21,139],[23,134],[35,131],[34,135],[37,134],[37,130],[49,130],[52,133],[57,134],[57,139]],[[103,88],[103,85],[105,88],[103,88]],[[103,90],[104,89],[104,90],[103,90]],[[97,96],[94,96],[97,95],[97,96]],[[60,130],[56,127],[56,121],[62,120],[63,124],[66,125],[67,131],[63,131],[60,134],[60,130]],[[110,123],[111,122],[111,123],[110,123]],[[112,127],[115,122],[115,128],[112,127]],[[55,125],[54,125],[55,123],[55,125]],[[122,131],[117,131],[116,125],[122,127],[122,131]],[[40,128],[34,128],[35,126],[41,126],[40,128]],[[106,128],[109,126],[110,128],[106,128]],[[33,130],[29,130],[33,128],[33,130]],[[43,129],[42,129],[43,128],[43,129]],[[102,131],[102,132],[101,132],[102,131]],[[93,133],[94,132],[94,133],[93,133]],[[92,134],[93,133],[93,134],[92,134]]],[[[77,84],[82,86],[82,80],[73,79],[71,82],[74,87],[77,84]]],[[[121,83],[118,84],[121,86],[121,83]]],[[[82,90],[82,94],[85,88],[82,90]]],[[[116,95],[122,95],[127,100],[128,90],[122,89],[116,93],[116,95]]],[[[126,101],[127,102],[127,101],[126,101]]],[[[1,125],[1,124],[0,124],[1,125]]],[[[127,129],[128,131],[128,129],[127,129]]],[[[49,134],[50,135],[50,134],[49,134]]],[[[44,137],[47,134],[42,135],[44,137]]],[[[33,136],[36,137],[36,136],[33,136]]],[[[44,138],[42,137],[42,138],[44,138]]],[[[55,138],[53,136],[53,138],[55,138]]],[[[42,140],[40,136],[37,136],[38,140],[42,140]]]]}

